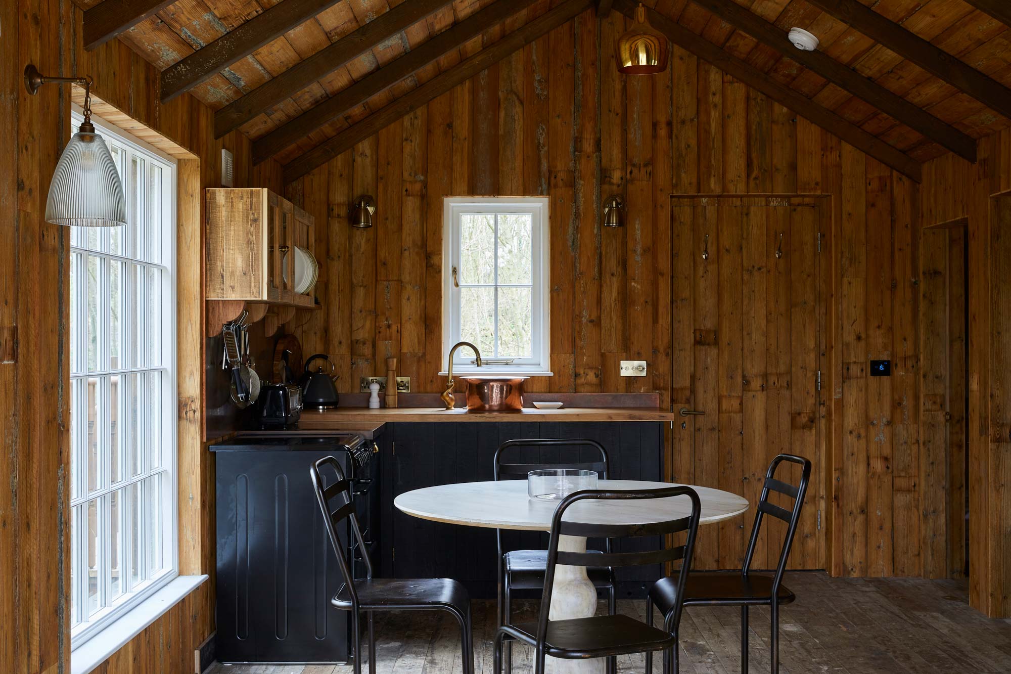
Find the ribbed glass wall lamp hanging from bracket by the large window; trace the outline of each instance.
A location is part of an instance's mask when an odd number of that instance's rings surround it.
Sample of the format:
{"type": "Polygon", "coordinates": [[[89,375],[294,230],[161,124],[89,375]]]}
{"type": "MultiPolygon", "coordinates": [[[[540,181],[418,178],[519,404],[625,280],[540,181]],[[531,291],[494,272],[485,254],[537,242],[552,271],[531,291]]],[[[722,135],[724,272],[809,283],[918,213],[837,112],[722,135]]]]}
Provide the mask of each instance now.
{"type": "Polygon", "coordinates": [[[91,78],[43,77],[28,66],[25,85],[30,93],[48,82],[83,84],[84,122],[70,139],[57,163],[45,220],[71,227],[115,227],[126,224],[126,198],[122,181],[105,140],[91,123],[91,78]]]}

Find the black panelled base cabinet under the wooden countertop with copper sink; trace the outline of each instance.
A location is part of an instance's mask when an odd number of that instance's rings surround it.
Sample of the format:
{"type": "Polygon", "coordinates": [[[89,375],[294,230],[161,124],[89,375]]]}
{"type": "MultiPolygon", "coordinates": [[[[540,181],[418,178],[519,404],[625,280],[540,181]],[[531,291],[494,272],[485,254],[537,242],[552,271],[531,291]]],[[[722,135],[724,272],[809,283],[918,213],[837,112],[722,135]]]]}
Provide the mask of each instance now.
{"type": "MultiPolygon", "coordinates": [[[[590,438],[601,442],[616,480],[663,479],[661,422],[398,422],[387,425],[383,447],[383,555],[386,575],[394,578],[448,577],[464,583],[471,596],[493,598],[494,529],[432,522],[393,507],[399,494],[423,487],[493,479],[492,458],[505,440],[516,438],[590,438]],[[388,452],[388,453],[386,453],[388,452]],[[388,459],[387,459],[388,457],[388,459]]],[[[525,460],[585,461],[592,451],[578,447],[527,449],[525,460]]],[[[544,549],[547,534],[503,531],[507,549],[544,549]]],[[[656,538],[623,540],[620,551],[644,550],[656,538]]],[[[659,567],[619,569],[619,596],[645,596],[659,567]]]]}

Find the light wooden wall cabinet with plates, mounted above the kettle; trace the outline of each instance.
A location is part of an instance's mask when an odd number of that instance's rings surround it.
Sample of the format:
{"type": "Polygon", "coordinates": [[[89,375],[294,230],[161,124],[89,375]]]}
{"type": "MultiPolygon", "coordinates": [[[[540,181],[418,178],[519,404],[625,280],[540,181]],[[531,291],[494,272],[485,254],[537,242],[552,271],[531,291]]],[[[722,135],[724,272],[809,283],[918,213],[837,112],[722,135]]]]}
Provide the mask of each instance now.
{"type": "Polygon", "coordinates": [[[314,256],[312,216],[260,187],[207,189],[206,206],[207,300],[313,306],[289,268],[296,246],[314,256]]]}

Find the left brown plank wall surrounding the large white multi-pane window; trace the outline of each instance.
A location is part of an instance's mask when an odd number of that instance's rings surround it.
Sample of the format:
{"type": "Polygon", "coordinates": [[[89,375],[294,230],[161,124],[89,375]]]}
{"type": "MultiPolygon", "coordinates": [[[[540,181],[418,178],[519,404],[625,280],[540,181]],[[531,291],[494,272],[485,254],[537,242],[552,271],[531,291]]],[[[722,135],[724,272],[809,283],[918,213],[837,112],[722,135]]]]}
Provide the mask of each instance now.
{"type": "MultiPolygon", "coordinates": [[[[0,140],[8,149],[0,153],[0,395],[12,401],[0,413],[0,530],[5,532],[0,536],[5,627],[0,671],[65,672],[70,671],[70,447],[64,393],[69,385],[70,244],[69,230],[45,224],[43,215],[50,178],[71,134],[71,91],[48,85],[29,96],[24,66],[34,63],[48,75],[92,75],[103,100],[200,158],[198,186],[215,184],[221,147],[236,155],[237,185],[280,191],[280,167],[270,162],[253,169],[250,143],[241,135],[214,141],[213,113],[195,98],[184,95],[161,106],[158,72],[118,40],[84,52],[81,11],[69,0],[2,3],[0,25],[0,112],[7,120],[0,124],[0,140]]],[[[181,184],[191,182],[182,172],[181,184]]],[[[202,202],[202,189],[195,195],[202,202]]],[[[181,267],[184,271],[192,270],[181,267]]],[[[181,414],[194,409],[193,401],[180,401],[181,414]]],[[[180,493],[185,528],[180,562],[183,573],[211,573],[211,581],[96,671],[191,671],[193,649],[213,628],[213,472],[207,452],[196,450],[188,452],[195,460],[182,477],[192,489],[180,493]]]]}

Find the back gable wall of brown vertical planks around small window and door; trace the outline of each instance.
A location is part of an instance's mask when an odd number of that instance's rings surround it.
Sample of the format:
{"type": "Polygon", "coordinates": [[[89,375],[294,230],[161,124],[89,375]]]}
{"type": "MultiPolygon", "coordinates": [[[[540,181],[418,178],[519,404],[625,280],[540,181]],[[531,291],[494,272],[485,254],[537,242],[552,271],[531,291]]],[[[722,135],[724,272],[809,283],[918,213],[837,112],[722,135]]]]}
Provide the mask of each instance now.
{"type": "MultiPolygon", "coordinates": [[[[943,575],[920,552],[922,527],[945,509],[924,514],[921,498],[917,186],[679,49],[664,75],[620,76],[611,45],[625,25],[587,12],[287,186],[327,224],[316,228],[324,310],[297,331],[303,350],[331,355],[342,392],[385,374],[387,356],[411,391],[440,391],[442,196],[546,194],[555,375],[531,390],[658,392],[668,405],[690,386],[671,352],[685,317],[670,296],[672,255],[684,254],[670,194],[830,195],[825,565],[943,575]],[[352,230],[348,203],[365,193],[377,225],[352,230]],[[614,193],[626,226],[604,229],[614,193]],[[648,375],[619,376],[625,358],[647,360],[648,375]],[[893,376],[870,380],[869,358],[893,359],[893,376]]],[[[668,469],[678,451],[668,446],[668,469]]]]}

